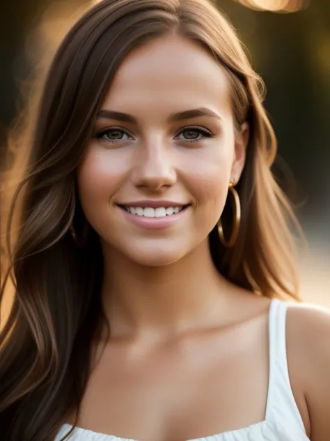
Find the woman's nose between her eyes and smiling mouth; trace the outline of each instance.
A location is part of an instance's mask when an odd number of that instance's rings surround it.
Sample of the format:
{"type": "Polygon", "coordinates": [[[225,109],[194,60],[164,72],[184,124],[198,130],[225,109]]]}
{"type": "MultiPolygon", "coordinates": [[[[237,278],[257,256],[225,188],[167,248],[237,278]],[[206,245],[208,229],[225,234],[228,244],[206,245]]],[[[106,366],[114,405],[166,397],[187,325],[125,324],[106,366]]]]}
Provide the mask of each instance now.
{"type": "Polygon", "coordinates": [[[173,151],[162,140],[145,142],[135,160],[133,183],[155,191],[175,184],[173,151]]]}

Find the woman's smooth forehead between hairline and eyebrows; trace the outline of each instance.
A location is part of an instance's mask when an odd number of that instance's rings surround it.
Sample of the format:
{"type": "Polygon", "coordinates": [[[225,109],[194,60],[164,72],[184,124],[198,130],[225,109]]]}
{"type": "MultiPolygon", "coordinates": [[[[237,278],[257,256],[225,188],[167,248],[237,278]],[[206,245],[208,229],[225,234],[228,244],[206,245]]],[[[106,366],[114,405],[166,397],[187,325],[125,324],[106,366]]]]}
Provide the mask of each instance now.
{"type": "Polygon", "coordinates": [[[230,112],[230,103],[224,68],[200,45],[170,36],[152,40],[125,58],[104,107],[139,112],[143,106],[168,105],[171,110],[207,106],[230,112]]]}

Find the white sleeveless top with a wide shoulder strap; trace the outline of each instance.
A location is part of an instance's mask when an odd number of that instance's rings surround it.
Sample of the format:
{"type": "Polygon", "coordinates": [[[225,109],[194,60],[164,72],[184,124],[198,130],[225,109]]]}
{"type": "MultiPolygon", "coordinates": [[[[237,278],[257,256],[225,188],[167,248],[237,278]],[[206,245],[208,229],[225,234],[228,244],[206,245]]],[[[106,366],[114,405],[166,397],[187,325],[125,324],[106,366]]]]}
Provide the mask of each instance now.
{"type": "MultiPolygon", "coordinates": [[[[285,345],[288,304],[278,299],[269,307],[269,387],[265,420],[235,431],[189,441],[308,441],[290,385],[285,345]]],[[[65,424],[54,441],[61,441],[72,426],[65,424]]],[[[74,428],[70,441],[136,441],[74,428]]],[[[66,441],[65,440],[65,441],[66,441]]]]}

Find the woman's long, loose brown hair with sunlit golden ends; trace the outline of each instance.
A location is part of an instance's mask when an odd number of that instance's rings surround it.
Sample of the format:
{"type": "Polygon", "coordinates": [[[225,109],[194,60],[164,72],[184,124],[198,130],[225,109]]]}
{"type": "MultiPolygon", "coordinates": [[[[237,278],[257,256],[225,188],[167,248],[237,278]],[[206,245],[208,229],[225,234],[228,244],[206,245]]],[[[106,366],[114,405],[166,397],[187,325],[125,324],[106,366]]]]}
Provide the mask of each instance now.
{"type": "Polygon", "coordinates": [[[168,33],[193,40],[221,63],[230,80],[235,124],[248,121],[251,127],[237,185],[239,237],[228,250],[214,228],[214,263],[223,276],[256,294],[298,299],[295,218],[271,171],[276,138],[262,106],[262,80],[235,31],[206,0],[100,1],[68,31],[25,112],[19,137],[17,128],[14,133],[18,161],[25,163],[8,216],[1,214],[8,220],[1,297],[13,289],[0,336],[2,440],[51,441],[79,410],[91,343],[104,314],[97,234],[89,227],[84,248],[70,234],[72,223],[78,233],[84,224],[75,171],[120,63],[138,45],[168,33]]]}

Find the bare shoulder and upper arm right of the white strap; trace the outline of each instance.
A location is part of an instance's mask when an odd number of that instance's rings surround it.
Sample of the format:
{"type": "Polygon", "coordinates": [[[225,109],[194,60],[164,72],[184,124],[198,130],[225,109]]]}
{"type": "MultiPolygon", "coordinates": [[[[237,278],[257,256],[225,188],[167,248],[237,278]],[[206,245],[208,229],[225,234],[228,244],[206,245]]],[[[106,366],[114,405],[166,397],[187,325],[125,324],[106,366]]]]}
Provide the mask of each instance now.
{"type": "Polygon", "coordinates": [[[290,381],[301,416],[311,440],[330,440],[330,310],[289,304],[286,327],[290,381]]]}

